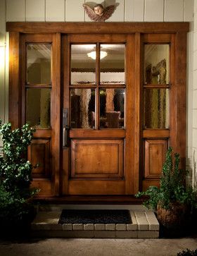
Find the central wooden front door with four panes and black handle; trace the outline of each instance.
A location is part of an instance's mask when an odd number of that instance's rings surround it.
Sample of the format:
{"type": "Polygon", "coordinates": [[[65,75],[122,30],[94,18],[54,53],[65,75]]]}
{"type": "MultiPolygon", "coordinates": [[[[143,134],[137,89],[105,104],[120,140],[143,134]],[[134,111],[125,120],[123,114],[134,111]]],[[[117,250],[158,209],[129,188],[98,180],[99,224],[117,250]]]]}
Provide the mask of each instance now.
{"type": "Polygon", "coordinates": [[[62,54],[63,195],[134,194],[134,37],[65,36],[62,54]]]}

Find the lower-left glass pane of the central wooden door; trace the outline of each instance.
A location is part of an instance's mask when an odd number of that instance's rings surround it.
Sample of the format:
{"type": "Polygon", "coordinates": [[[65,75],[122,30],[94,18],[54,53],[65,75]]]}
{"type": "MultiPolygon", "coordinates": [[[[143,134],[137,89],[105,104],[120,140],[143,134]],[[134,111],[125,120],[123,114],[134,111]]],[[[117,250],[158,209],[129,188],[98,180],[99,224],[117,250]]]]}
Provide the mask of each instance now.
{"type": "Polygon", "coordinates": [[[95,127],[95,90],[71,89],[71,128],[95,127]]]}

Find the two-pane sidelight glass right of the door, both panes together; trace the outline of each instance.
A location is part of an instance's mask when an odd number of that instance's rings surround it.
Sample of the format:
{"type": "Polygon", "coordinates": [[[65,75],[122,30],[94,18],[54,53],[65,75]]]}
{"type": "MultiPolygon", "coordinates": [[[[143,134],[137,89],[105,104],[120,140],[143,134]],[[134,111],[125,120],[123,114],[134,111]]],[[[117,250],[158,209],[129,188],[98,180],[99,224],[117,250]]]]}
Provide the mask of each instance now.
{"type": "Polygon", "coordinates": [[[170,44],[144,44],[144,129],[170,127],[170,44]]]}

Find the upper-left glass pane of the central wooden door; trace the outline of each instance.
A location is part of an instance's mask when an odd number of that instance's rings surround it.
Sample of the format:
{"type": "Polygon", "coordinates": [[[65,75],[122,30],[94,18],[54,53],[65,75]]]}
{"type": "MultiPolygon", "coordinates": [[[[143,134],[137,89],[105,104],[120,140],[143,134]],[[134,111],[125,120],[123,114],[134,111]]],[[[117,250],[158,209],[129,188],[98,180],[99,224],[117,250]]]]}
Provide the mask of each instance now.
{"type": "Polygon", "coordinates": [[[95,84],[96,44],[72,44],[70,68],[71,85],[95,84]]]}

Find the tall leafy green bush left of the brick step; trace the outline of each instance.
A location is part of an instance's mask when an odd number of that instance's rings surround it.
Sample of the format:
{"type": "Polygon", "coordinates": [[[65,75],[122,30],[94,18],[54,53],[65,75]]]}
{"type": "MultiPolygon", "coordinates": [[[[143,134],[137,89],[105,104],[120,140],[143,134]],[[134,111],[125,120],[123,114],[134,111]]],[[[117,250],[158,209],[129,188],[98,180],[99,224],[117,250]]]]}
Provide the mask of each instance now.
{"type": "MultiPolygon", "coordinates": [[[[11,123],[2,124],[0,135],[3,142],[3,154],[0,155],[0,229],[9,227],[27,228],[34,217],[32,197],[38,193],[30,188],[32,164],[26,159],[34,129],[29,124],[22,128],[11,129],[11,123]]],[[[36,166],[34,166],[36,167],[36,166]]]]}

